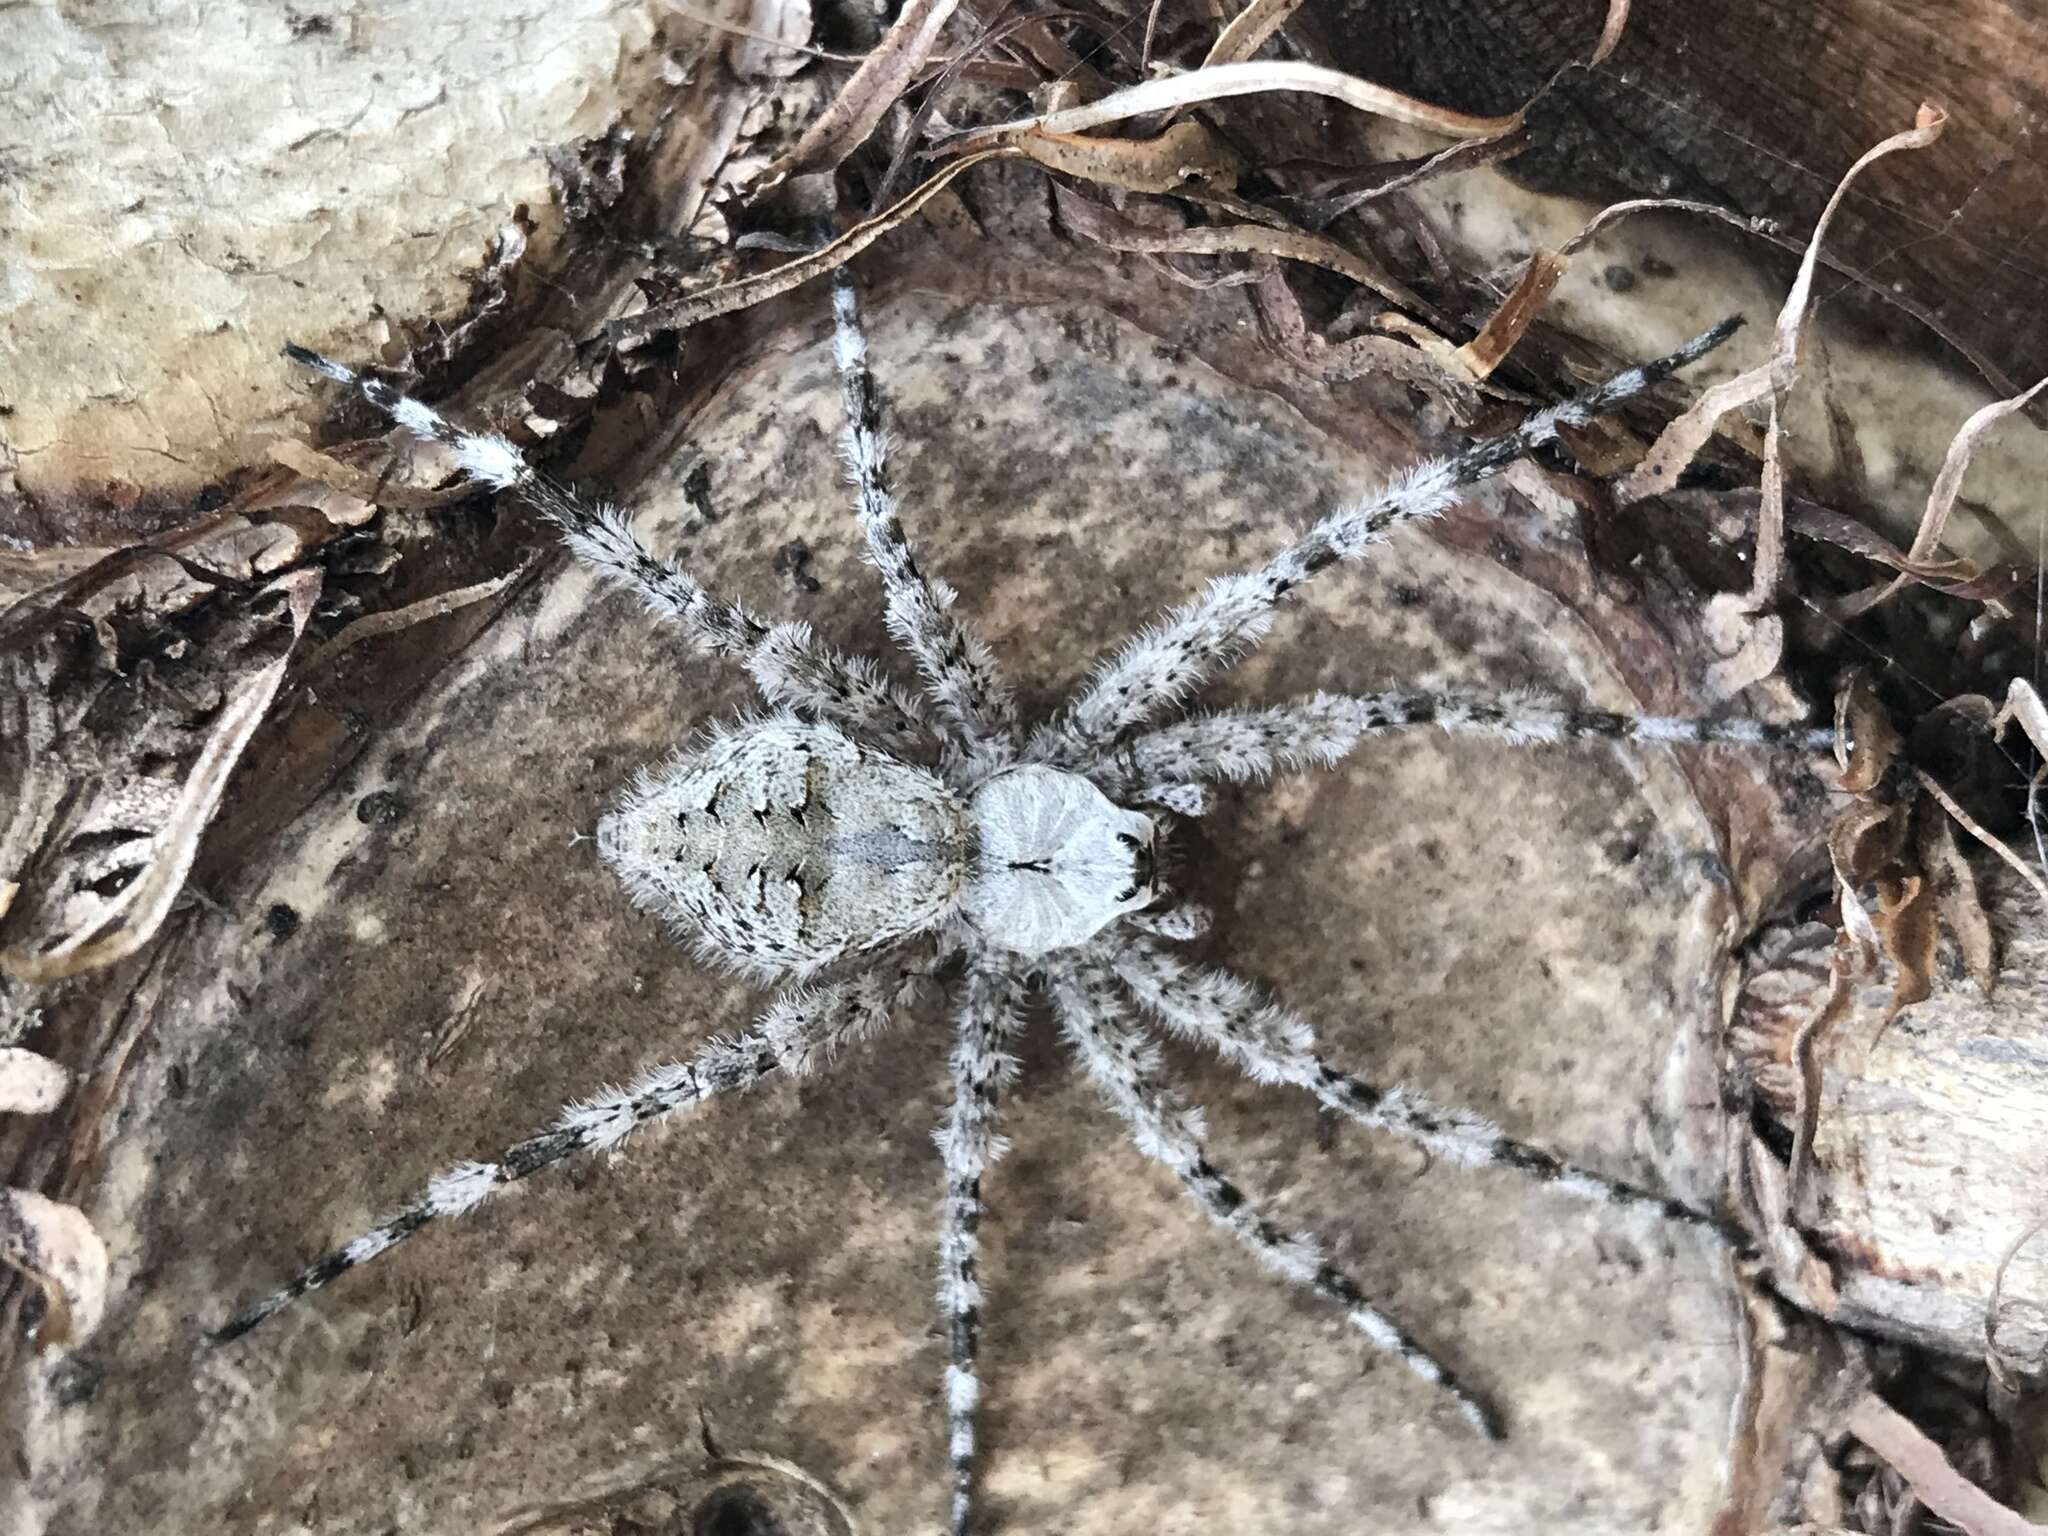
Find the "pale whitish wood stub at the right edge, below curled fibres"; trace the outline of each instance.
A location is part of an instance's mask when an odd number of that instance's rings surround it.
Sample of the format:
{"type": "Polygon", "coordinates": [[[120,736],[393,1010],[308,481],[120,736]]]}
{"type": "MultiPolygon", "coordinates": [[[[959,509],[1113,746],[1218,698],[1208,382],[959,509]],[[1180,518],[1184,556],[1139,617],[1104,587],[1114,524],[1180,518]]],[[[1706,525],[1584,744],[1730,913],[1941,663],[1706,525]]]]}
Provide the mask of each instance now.
{"type": "MultiPolygon", "coordinates": [[[[1837,1260],[1839,1317],[1944,1354],[1978,1356],[1991,1335],[2032,1374],[2048,1362],[2048,1241],[2028,1241],[2048,1188],[2048,1028],[2040,897],[1997,870],[1997,987],[1985,997],[1960,967],[1933,997],[1888,1020],[1890,977],[1855,989],[1825,1032],[1815,1161],[1821,1219],[1806,1237],[1837,1260]],[[2003,1286],[1999,1274],[2003,1266],[2003,1286]]],[[[1792,1042],[1827,999],[1833,930],[1765,930],[1747,967],[1731,1047],[1790,1122],[1792,1042]]]]}

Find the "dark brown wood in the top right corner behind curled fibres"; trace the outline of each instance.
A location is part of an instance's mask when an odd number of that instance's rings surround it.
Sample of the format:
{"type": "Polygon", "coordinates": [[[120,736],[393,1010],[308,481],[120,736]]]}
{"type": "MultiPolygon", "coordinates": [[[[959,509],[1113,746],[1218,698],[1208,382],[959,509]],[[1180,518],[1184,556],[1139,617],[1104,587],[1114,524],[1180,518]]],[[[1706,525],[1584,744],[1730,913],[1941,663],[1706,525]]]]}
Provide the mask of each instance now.
{"type": "MultiPolygon", "coordinates": [[[[1597,10],[1401,0],[1305,6],[1294,29],[1343,68],[1501,113],[1587,53],[1597,10]]],[[[2030,385],[2048,373],[2048,18],[2028,6],[1636,0],[1614,57],[1556,80],[1511,174],[1595,201],[1704,199],[1802,240],[1841,172],[1921,102],[1948,109],[1948,133],[1851,195],[1833,250],[2030,385]]],[[[1862,309],[1892,342],[1927,346],[1896,311],[1862,309]]]]}

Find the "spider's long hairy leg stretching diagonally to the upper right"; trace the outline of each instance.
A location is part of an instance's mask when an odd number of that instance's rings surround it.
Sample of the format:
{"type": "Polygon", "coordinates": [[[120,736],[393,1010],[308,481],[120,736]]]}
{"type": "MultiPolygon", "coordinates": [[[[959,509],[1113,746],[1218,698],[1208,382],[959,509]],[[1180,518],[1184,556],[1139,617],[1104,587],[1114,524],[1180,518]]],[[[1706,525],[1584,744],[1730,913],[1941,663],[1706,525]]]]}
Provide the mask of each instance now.
{"type": "Polygon", "coordinates": [[[1083,764],[1122,731],[1155,719],[1219,668],[1255,645],[1272,627],[1278,602],[1341,559],[1360,559],[1395,528],[1434,518],[1456,506],[1462,489],[1499,473],[1522,455],[1552,440],[1561,428],[1593,418],[1706,356],[1735,334],[1739,319],[1724,319],[1686,342],[1677,352],[1614,375],[1608,383],[1532,414],[1503,436],[1475,442],[1464,453],[1415,465],[1391,485],[1337,508],[1303,539],[1255,571],[1219,575],[1194,602],[1171,608],[1128,639],[1063,715],[1032,733],[1026,758],[1061,768],[1083,764]]]}

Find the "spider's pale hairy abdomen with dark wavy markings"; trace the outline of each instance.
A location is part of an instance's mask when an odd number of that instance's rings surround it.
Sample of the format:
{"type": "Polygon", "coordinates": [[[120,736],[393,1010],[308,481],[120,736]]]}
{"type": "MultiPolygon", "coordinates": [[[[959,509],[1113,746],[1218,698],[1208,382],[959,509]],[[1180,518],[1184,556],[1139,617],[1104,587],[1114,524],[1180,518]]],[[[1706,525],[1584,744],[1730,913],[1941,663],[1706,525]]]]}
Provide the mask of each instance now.
{"type": "Polygon", "coordinates": [[[645,776],[598,825],[633,899],[741,969],[815,971],[930,928],[973,868],[924,768],[813,721],[752,721],[645,776]]]}

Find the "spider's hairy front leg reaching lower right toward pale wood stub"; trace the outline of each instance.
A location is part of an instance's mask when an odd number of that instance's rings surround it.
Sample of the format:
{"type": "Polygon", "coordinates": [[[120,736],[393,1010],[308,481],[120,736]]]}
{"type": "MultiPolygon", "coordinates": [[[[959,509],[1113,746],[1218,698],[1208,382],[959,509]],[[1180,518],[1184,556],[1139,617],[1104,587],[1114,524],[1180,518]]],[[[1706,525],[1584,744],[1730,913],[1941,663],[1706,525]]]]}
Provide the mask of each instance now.
{"type": "Polygon", "coordinates": [[[1667,1194],[1608,1178],[1516,1141],[1466,1110],[1438,1108],[1403,1087],[1378,1087],[1331,1067],[1315,1049],[1309,1022],[1266,999],[1229,971],[1188,965],[1163,946],[1141,940],[1104,954],[1116,979],[1147,1014],[1184,1040],[1210,1047],[1247,1077],[1290,1083],[1315,1094],[1325,1108],[1372,1130],[1384,1130],[1464,1167],[1505,1167],[1552,1190],[1620,1210],[1645,1210],[1708,1233],[1729,1247],[1749,1239],[1733,1225],[1667,1194]]]}

